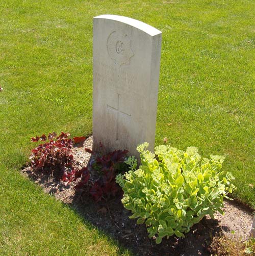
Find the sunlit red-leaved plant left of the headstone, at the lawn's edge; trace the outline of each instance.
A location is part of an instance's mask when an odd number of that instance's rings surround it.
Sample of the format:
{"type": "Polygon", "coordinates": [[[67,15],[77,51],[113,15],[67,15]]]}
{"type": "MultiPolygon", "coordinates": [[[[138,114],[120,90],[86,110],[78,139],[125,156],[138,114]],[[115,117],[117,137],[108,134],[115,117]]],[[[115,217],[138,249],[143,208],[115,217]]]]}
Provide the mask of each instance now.
{"type": "MultiPolygon", "coordinates": [[[[73,141],[67,138],[68,134],[61,133],[57,140],[50,140],[32,149],[31,165],[35,171],[42,173],[52,173],[57,180],[63,177],[67,171],[67,176],[71,177],[75,171],[72,168],[73,156],[71,148],[73,141]]],[[[52,138],[52,136],[48,136],[52,138]]],[[[41,137],[32,138],[32,141],[46,140],[43,134],[41,137]]]]}

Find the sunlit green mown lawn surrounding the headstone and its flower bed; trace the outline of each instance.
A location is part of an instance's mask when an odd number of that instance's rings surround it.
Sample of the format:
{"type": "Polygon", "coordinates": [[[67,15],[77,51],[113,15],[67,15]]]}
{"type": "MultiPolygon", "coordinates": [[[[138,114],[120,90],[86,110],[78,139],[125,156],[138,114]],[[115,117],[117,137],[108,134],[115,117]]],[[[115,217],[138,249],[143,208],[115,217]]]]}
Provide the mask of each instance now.
{"type": "Polygon", "coordinates": [[[0,2],[0,254],[129,254],[19,174],[32,136],[92,131],[92,19],[163,32],[156,143],[225,155],[255,208],[255,2],[0,2]],[[171,123],[171,125],[167,125],[171,123]]]}

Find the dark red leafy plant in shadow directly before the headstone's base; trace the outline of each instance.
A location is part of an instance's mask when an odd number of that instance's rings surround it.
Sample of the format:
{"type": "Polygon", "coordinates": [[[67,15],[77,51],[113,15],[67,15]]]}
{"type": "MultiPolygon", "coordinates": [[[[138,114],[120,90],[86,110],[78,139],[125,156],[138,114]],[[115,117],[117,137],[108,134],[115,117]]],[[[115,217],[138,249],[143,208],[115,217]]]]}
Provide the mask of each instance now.
{"type": "Polygon", "coordinates": [[[120,191],[115,182],[116,175],[127,170],[124,163],[126,154],[127,150],[115,150],[97,158],[91,166],[93,177],[90,176],[88,168],[79,171],[77,177],[81,175],[81,179],[75,188],[89,192],[95,201],[115,196],[120,191]]]}

